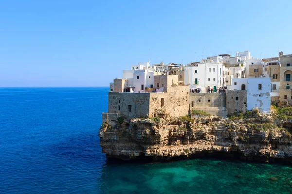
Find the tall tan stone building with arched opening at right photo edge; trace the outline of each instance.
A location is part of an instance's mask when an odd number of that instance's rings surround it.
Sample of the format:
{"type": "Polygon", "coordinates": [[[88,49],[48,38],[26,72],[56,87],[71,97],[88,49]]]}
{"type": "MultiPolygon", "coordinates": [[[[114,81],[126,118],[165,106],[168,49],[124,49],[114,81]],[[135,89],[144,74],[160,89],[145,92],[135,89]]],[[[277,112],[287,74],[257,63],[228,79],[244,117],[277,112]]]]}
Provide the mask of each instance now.
{"type": "Polygon", "coordinates": [[[292,104],[292,54],[279,53],[280,67],[280,99],[292,104]]]}

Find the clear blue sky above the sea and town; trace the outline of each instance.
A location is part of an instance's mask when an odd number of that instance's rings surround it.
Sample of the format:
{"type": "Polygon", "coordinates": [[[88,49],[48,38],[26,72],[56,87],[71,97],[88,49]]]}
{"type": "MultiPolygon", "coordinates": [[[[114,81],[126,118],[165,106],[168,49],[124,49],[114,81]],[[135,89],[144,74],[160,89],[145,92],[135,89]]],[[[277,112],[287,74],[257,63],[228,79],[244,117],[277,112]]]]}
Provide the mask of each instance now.
{"type": "Polygon", "coordinates": [[[0,0],[0,87],[108,86],[138,62],[292,54],[292,0],[0,0]]]}

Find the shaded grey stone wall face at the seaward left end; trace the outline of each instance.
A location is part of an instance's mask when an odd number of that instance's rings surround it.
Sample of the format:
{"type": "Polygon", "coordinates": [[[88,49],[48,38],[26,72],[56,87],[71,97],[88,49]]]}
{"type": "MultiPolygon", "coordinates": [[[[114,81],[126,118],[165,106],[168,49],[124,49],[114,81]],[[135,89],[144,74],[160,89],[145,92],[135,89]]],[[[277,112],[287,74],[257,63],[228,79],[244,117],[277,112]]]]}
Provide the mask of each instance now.
{"type": "Polygon", "coordinates": [[[151,93],[109,92],[109,113],[127,118],[142,118],[149,114],[151,93]]]}

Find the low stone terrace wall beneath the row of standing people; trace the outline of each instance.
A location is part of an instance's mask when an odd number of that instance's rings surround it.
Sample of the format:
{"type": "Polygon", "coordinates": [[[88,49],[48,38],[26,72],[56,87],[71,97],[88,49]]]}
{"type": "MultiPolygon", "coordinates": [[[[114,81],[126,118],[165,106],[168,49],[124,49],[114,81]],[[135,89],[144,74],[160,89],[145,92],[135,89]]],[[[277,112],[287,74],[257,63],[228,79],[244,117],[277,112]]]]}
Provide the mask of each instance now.
{"type": "Polygon", "coordinates": [[[190,93],[190,107],[225,107],[225,93],[190,93]]]}

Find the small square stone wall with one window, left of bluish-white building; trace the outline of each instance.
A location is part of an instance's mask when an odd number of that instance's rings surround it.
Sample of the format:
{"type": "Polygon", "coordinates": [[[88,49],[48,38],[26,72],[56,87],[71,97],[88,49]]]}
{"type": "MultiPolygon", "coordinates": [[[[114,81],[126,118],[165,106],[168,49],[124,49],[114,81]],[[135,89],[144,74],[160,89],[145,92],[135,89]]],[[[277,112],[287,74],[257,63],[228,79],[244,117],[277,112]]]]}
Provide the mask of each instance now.
{"type": "Polygon", "coordinates": [[[227,113],[244,113],[247,111],[247,90],[226,91],[227,113]]]}

